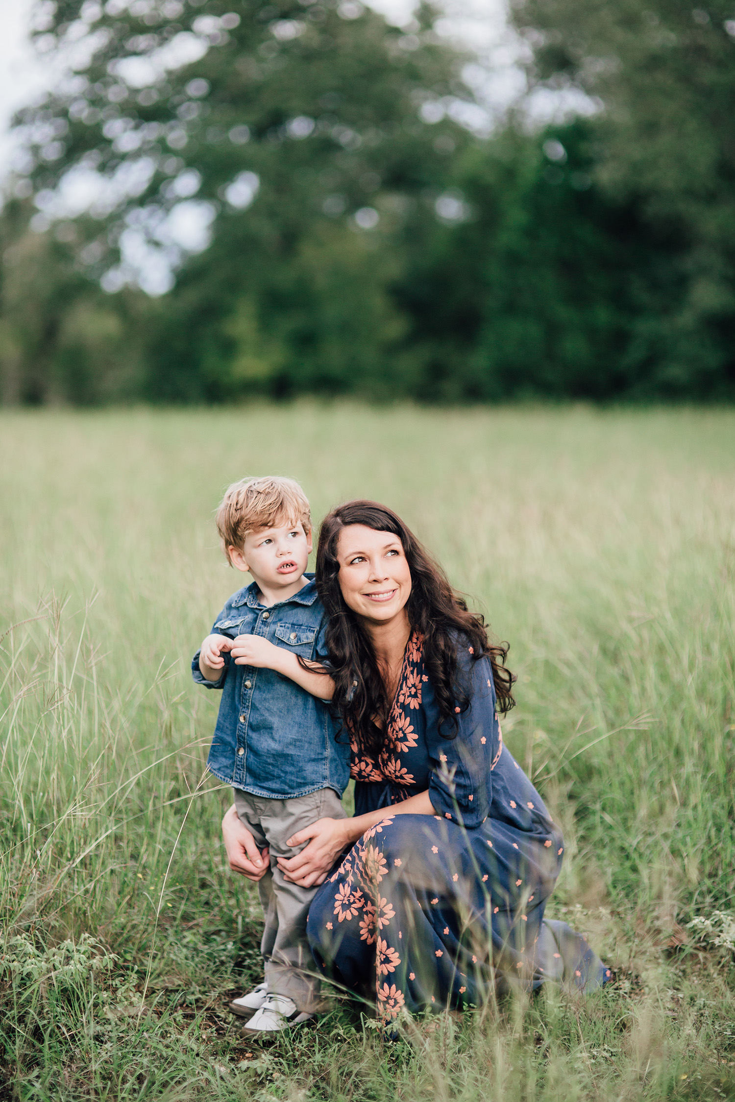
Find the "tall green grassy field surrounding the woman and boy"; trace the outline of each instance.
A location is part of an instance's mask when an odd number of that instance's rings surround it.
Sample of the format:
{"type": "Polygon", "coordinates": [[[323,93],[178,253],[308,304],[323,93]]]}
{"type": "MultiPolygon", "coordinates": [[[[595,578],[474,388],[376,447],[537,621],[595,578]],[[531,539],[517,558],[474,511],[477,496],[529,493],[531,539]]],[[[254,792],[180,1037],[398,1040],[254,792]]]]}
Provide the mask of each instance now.
{"type": "Polygon", "coordinates": [[[4,413],[0,484],[0,1099],[735,1098],[735,412],[4,413]],[[549,914],[610,988],[239,1037],[260,916],[188,666],[264,473],[391,505],[510,641],[549,914]]]}

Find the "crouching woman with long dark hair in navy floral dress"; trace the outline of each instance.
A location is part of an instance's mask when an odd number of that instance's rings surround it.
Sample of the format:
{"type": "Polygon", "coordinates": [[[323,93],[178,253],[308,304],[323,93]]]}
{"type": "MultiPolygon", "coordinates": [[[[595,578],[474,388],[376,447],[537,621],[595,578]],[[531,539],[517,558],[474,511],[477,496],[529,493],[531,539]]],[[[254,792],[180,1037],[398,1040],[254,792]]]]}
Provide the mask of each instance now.
{"type": "Polygon", "coordinates": [[[371,994],[385,1019],[476,1004],[490,983],[605,983],[584,939],[543,918],[563,842],[502,745],[507,648],[488,644],[482,617],[375,503],[325,518],[316,577],[355,817],[299,832],[291,843],[309,845],[280,864],[323,885],[309,912],[322,974],[371,994]]]}

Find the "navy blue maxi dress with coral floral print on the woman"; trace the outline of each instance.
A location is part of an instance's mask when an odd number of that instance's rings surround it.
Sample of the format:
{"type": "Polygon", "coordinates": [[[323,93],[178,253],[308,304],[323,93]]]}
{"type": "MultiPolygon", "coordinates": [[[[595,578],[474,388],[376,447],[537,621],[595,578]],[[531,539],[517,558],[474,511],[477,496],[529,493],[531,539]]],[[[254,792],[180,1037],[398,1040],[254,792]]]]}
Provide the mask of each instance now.
{"type": "Polygon", "coordinates": [[[543,911],[564,844],[510,752],[495,711],[489,661],[461,648],[471,706],[455,738],[409,640],[378,760],[353,745],[355,814],[386,808],[322,885],[309,939],[323,975],[376,998],[379,1016],[477,1004],[488,985],[526,990],[563,980],[586,991],[609,979],[584,938],[543,911]],[[435,815],[390,813],[429,790],[435,815]]]}

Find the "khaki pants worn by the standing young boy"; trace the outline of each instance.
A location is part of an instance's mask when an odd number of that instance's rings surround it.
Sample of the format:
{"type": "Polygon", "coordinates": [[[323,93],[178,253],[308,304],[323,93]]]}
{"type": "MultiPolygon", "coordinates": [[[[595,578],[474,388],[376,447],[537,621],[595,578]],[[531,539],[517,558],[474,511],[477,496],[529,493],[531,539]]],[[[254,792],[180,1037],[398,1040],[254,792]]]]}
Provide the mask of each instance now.
{"type": "Polygon", "coordinates": [[[287,839],[311,827],[317,819],[346,819],[342,801],[331,788],[288,800],[270,800],[235,789],[235,807],[260,850],[270,847],[270,868],[258,882],[266,929],[260,951],[266,962],[266,982],[272,994],[288,995],[300,1011],[318,1006],[320,976],[306,938],[309,906],[316,886],[290,884],[278,867],[279,857],[294,857],[307,845],[289,846],[287,839]]]}

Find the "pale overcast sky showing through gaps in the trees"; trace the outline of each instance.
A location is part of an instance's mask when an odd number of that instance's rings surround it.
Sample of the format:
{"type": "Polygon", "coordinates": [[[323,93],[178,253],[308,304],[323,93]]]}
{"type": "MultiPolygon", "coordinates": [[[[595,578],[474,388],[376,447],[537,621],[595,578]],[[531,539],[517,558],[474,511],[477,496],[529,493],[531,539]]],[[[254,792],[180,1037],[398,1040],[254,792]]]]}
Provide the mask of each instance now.
{"type": "MultiPolygon", "coordinates": [[[[365,2],[382,12],[390,23],[400,26],[410,22],[417,0],[365,2]]],[[[234,2],[233,7],[236,9],[237,3],[234,2]]],[[[442,7],[445,17],[437,21],[436,30],[476,53],[477,61],[465,67],[464,78],[483,105],[480,107],[454,97],[446,110],[452,118],[476,133],[489,133],[494,120],[498,120],[504,109],[525,91],[526,77],[517,62],[526,47],[508,29],[506,0],[443,0],[442,7]]],[[[54,62],[45,55],[41,61],[30,44],[29,26],[33,8],[34,0],[0,0],[0,180],[10,168],[13,141],[9,127],[13,111],[53,86],[63,72],[60,60],[54,62]]],[[[586,101],[585,106],[584,97],[580,97],[580,94],[572,94],[570,98],[566,93],[544,90],[536,91],[526,104],[537,122],[559,118],[570,109],[585,114],[588,109],[594,109],[591,108],[591,101],[586,101]]],[[[437,119],[428,121],[435,122],[437,119]]],[[[132,168],[137,165],[140,169],[145,166],[147,160],[138,158],[133,162],[132,168]]],[[[131,165],[122,166],[130,168],[131,165]]],[[[245,182],[247,195],[244,193],[240,196],[238,192],[230,199],[236,206],[249,205],[259,186],[255,174],[241,175],[248,177],[245,182]]],[[[233,187],[239,186],[238,181],[240,177],[233,182],[233,187]]],[[[150,294],[162,294],[172,285],[173,272],[182,258],[206,248],[215,212],[210,203],[195,197],[199,183],[198,173],[182,173],[182,179],[175,184],[179,188],[175,194],[182,202],[174,205],[165,219],[153,227],[130,225],[126,229],[120,238],[122,263],[119,268],[110,269],[102,279],[106,290],[117,290],[125,282],[132,281],[138,282],[150,294]]],[[[136,181],[129,181],[127,176],[125,181],[110,182],[90,168],[72,170],[62,181],[55,196],[50,197],[50,193],[36,196],[40,213],[31,219],[31,229],[41,231],[48,228],[54,219],[75,217],[83,209],[89,209],[94,214],[95,203],[111,203],[114,206],[120,197],[117,194],[118,184],[123,191],[127,187],[130,194],[137,195],[145,181],[138,186],[136,181]]],[[[463,206],[456,197],[450,197],[447,202],[450,201],[457,209],[463,206]]],[[[378,222],[378,213],[371,208],[368,213],[371,217],[370,226],[374,226],[378,222]]],[[[361,214],[365,215],[365,210],[361,214]]]]}

